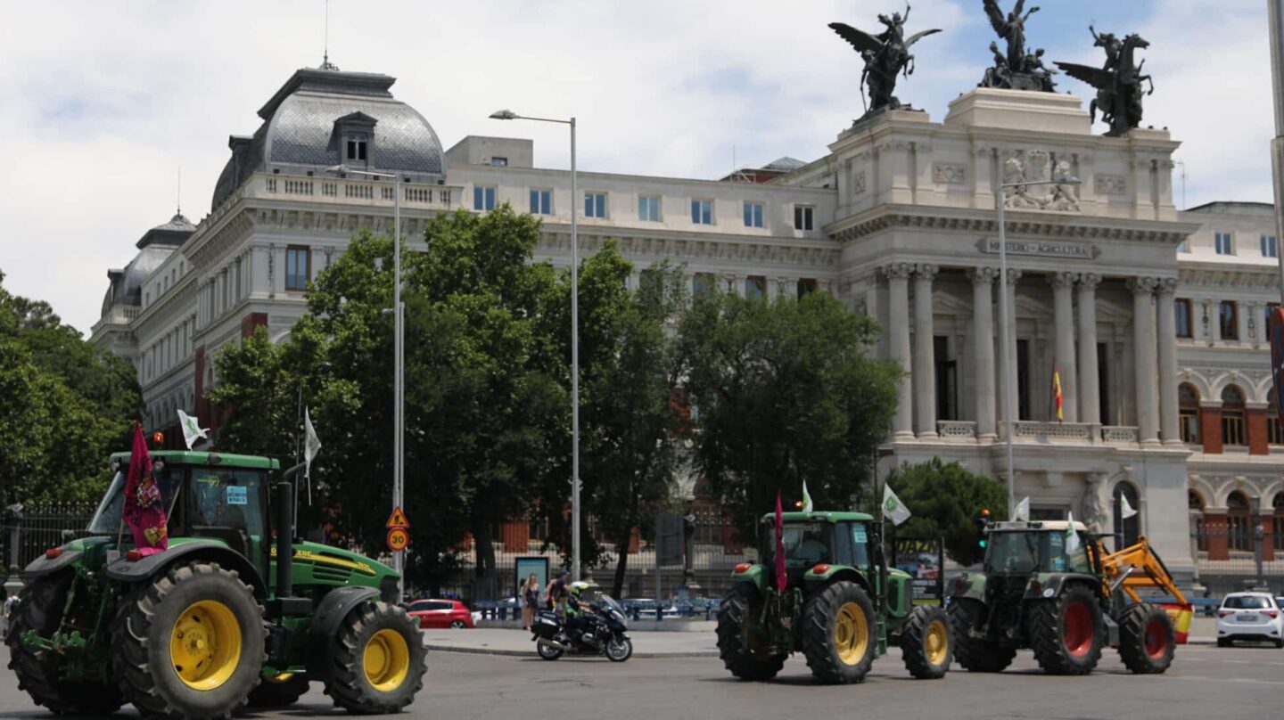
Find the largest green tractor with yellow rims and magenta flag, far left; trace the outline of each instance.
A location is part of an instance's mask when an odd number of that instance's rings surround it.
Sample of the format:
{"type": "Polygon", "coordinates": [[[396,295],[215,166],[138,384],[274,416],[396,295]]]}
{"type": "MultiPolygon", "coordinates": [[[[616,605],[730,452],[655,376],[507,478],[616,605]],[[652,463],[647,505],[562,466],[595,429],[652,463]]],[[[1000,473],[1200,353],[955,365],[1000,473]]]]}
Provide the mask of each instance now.
{"type": "Polygon", "coordinates": [[[395,712],[422,687],[417,625],[393,569],[293,538],[288,470],[275,459],[154,452],[169,547],[143,556],[121,515],[130,454],[89,535],[28,565],[10,619],[9,667],[55,714],[223,719],[284,707],[311,681],[357,714],[395,712]],[[275,542],[272,538],[275,535],[275,542]]]}

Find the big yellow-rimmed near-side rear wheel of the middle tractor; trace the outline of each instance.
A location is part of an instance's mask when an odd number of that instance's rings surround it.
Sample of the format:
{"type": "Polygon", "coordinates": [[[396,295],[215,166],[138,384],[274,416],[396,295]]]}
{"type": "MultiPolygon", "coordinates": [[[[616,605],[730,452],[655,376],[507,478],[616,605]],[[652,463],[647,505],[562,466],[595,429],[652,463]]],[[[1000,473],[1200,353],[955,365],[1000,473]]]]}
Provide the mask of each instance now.
{"type": "Polygon", "coordinates": [[[802,653],[811,675],[822,683],[847,684],[865,679],[878,646],[874,604],[869,596],[838,580],[802,606],[802,653]]]}

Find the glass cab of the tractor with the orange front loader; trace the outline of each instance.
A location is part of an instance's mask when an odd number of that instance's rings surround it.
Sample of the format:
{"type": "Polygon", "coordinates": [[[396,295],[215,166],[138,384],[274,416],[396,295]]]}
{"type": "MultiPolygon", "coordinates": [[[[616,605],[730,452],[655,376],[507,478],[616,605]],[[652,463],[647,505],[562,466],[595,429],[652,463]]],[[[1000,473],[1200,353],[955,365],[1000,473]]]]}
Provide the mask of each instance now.
{"type": "MultiPolygon", "coordinates": [[[[1082,522],[1075,522],[1079,547],[1067,548],[1070,522],[996,522],[989,527],[985,572],[1035,575],[1043,572],[1091,572],[1088,548],[1093,540],[1082,522]]],[[[1072,545],[1073,545],[1072,544],[1072,545]]]]}

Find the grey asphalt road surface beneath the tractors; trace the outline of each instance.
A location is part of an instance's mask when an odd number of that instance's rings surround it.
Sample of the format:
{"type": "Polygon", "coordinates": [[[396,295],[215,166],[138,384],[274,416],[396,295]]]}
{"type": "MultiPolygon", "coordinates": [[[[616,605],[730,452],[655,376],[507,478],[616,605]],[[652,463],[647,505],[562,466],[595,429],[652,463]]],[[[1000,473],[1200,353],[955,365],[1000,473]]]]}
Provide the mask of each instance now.
{"type": "MultiPolygon", "coordinates": [[[[1088,678],[1043,675],[1028,653],[1002,675],[957,667],[944,680],[912,680],[899,651],[874,662],[862,685],[817,685],[794,658],[773,683],[741,683],[716,658],[535,658],[434,652],[425,690],[402,717],[668,719],[881,716],[937,719],[1284,717],[1284,651],[1184,647],[1166,675],[1127,674],[1113,651],[1088,678]]],[[[343,716],[315,688],[282,712],[252,717],[343,716]]],[[[118,717],[135,717],[132,708],[118,717]]],[[[0,670],[0,719],[53,717],[0,670]]]]}

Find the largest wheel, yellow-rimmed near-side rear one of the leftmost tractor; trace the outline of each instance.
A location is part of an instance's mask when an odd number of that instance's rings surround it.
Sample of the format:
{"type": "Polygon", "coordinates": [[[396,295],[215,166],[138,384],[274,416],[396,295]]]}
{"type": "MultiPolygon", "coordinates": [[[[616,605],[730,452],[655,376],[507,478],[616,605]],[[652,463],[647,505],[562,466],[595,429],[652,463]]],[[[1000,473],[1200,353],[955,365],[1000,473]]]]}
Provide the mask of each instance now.
{"type": "Polygon", "coordinates": [[[254,592],[217,562],[171,567],[121,604],[112,664],[144,717],[230,717],[259,681],[267,630],[254,592]]]}

